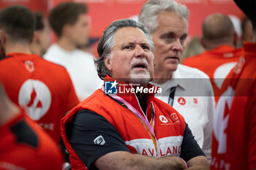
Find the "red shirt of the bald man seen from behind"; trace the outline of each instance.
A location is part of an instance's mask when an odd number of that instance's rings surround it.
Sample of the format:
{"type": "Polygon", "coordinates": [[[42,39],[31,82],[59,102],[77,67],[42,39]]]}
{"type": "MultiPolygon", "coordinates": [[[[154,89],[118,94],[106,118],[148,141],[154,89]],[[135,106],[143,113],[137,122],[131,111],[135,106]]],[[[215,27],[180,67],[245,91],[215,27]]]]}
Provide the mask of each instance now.
{"type": "Polygon", "coordinates": [[[241,53],[242,49],[222,45],[214,50],[206,50],[200,55],[186,58],[183,64],[205,72],[211,79],[215,96],[219,96],[221,94],[219,90],[224,78],[236,65],[241,53]]]}

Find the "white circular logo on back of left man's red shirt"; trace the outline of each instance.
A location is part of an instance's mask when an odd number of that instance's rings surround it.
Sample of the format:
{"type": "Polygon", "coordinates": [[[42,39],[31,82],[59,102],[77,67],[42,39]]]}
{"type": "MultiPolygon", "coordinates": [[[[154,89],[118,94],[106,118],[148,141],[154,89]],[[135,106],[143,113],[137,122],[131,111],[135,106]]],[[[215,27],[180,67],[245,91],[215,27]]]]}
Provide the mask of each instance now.
{"type": "Polygon", "coordinates": [[[26,80],[21,85],[18,102],[26,109],[31,119],[39,120],[50,108],[50,90],[39,80],[26,80]]]}

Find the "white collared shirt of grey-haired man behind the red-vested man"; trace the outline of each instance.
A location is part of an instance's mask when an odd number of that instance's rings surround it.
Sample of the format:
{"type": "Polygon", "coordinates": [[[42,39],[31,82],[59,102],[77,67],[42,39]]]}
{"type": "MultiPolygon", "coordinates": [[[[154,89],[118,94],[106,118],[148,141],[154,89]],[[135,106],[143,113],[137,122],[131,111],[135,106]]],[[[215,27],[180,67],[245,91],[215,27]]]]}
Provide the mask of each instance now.
{"type": "Polygon", "coordinates": [[[211,131],[214,117],[214,92],[209,77],[198,69],[178,65],[172,78],[162,85],[161,94],[156,97],[168,103],[170,88],[176,86],[173,108],[183,115],[197,143],[211,158],[211,131]]]}

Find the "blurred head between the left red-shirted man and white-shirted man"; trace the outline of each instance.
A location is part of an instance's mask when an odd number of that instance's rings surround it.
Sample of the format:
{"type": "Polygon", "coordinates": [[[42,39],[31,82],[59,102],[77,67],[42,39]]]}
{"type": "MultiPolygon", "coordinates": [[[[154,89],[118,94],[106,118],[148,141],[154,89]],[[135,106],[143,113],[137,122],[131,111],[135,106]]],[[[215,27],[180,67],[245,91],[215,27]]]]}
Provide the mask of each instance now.
{"type": "Polygon", "coordinates": [[[42,12],[34,12],[34,17],[36,18],[36,28],[30,48],[33,54],[42,57],[50,46],[50,26],[42,12]]]}

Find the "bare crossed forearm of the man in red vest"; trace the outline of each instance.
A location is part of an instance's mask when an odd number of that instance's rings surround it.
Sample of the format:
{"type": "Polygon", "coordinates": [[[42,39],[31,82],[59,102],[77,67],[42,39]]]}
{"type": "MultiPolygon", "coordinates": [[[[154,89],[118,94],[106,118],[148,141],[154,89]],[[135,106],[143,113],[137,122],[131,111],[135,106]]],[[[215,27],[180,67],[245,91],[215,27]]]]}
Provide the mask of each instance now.
{"type": "Polygon", "coordinates": [[[110,152],[95,161],[94,166],[99,170],[179,170],[185,169],[185,164],[176,156],[151,158],[130,152],[110,152]]]}

